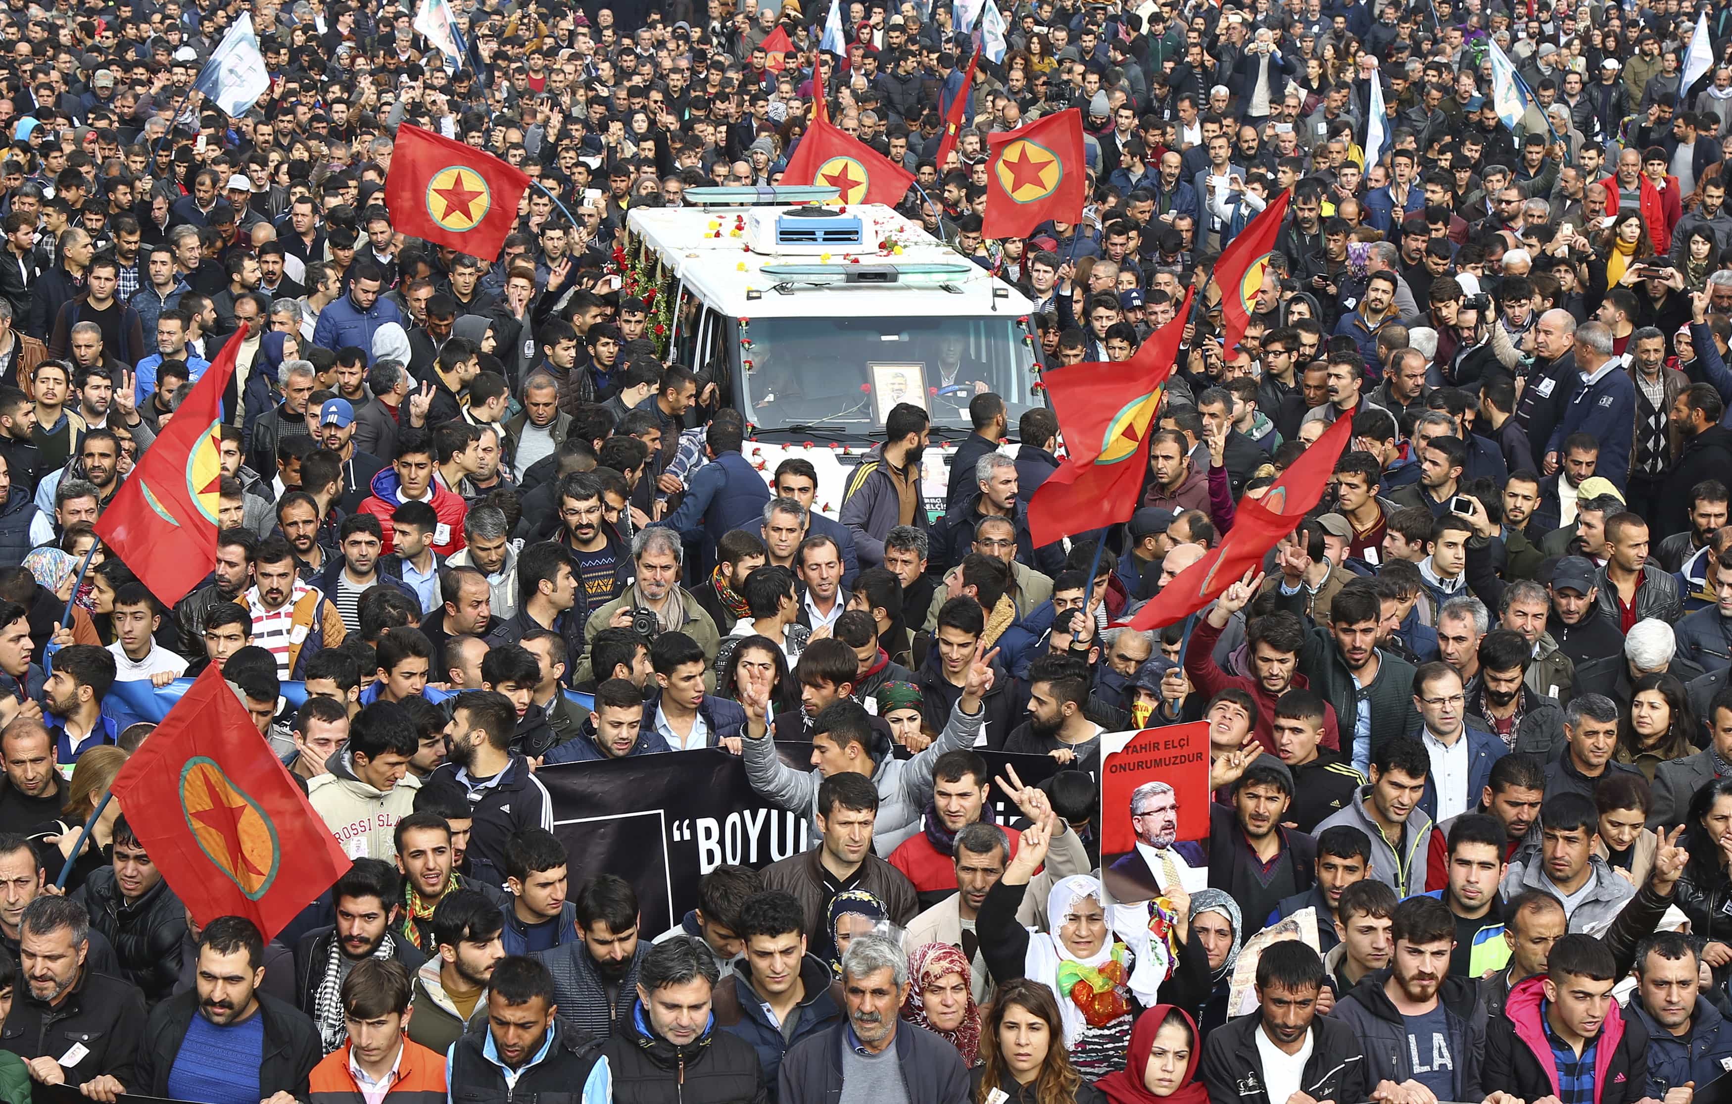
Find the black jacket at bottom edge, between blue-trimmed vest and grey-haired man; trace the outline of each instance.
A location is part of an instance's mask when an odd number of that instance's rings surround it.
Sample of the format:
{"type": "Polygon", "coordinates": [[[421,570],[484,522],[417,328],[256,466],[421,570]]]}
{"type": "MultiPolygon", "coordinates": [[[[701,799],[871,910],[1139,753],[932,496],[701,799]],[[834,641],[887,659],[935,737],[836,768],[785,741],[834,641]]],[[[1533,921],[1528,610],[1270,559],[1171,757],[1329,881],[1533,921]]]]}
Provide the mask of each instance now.
{"type": "Polygon", "coordinates": [[[752,1043],[715,1029],[715,1014],[691,1045],[675,1047],[650,1028],[643,1002],[601,1043],[613,1071],[613,1104],[762,1104],[764,1075],[752,1043]]]}

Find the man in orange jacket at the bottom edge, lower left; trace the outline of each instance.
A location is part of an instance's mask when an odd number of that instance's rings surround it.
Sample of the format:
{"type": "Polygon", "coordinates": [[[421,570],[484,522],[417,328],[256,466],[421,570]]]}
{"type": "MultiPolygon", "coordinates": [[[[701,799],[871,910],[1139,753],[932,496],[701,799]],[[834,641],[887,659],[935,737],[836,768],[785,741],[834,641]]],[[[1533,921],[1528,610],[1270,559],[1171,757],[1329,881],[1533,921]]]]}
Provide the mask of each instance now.
{"type": "Polygon", "coordinates": [[[445,1059],[409,1031],[409,969],[365,958],[343,981],[348,1040],[313,1066],[310,1104],[445,1104],[445,1059]]]}

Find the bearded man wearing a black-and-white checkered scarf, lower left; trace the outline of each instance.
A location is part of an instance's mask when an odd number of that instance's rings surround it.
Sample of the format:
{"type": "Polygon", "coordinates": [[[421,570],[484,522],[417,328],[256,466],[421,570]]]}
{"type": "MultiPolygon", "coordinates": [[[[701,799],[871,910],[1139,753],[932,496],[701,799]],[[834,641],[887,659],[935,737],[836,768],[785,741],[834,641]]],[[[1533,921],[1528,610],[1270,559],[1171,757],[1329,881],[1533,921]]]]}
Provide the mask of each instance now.
{"type": "Polygon", "coordinates": [[[294,948],[294,993],[319,1029],[319,1057],[348,1038],[343,983],[357,962],[397,958],[410,971],[426,960],[414,943],[397,934],[402,879],[385,860],[360,858],[331,889],[334,927],[317,927],[294,948]]]}

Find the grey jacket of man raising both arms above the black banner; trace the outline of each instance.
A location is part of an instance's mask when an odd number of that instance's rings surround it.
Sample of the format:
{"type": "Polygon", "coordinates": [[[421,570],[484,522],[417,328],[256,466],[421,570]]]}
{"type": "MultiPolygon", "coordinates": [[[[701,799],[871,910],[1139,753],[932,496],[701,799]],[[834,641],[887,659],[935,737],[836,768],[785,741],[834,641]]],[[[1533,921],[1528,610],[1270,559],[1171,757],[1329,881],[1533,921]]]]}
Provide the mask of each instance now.
{"type": "MultiPolygon", "coordinates": [[[[932,768],[939,756],[949,750],[973,747],[986,711],[970,716],[961,702],[951,709],[951,719],[923,752],[913,759],[895,759],[885,754],[873,768],[873,785],[878,787],[878,820],[873,827],[873,851],[889,856],[897,844],[920,832],[920,816],[932,801],[932,768]]],[[[818,839],[818,785],[824,780],[818,768],[798,771],[781,761],[776,745],[766,733],[759,740],[743,740],[746,780],[766,801],[811,820],[811,839],[818,839]]],[[[913,896],[913,893],[909,893],[913,896]]]]}

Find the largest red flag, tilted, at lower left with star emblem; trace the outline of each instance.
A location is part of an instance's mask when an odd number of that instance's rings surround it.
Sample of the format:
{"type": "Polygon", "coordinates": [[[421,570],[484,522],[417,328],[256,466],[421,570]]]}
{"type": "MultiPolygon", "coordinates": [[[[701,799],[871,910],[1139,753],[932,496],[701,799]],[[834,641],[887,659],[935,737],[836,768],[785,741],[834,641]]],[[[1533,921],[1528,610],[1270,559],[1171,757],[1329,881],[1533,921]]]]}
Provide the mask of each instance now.
{"type": "Polygon", "coordinates": [[[246,917],[274,939],[350,867],[215,667],[175,702],[111,789],[201,925],[246,917]]]}

